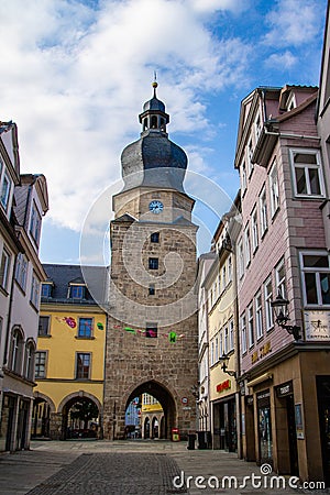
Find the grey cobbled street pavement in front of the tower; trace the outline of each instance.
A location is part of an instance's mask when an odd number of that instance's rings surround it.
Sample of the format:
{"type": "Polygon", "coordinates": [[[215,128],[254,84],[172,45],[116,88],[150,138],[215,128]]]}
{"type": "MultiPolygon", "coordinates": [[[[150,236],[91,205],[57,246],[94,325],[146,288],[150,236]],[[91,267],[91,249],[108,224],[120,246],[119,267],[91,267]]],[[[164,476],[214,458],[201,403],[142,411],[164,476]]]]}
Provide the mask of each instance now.
{"type": "MultiPolygon", "coordinates": [[[[31,449],[0,454],[0,495],[311,493],[298,488],[298,482],[296,490],[289,488],[288,476],[280,477],[278,486],[275,480],[272,488],[274,473],[261,476],[255,463],[218,450],[187,450],[186,442],[33,441],[31,449]],[[252,483],[253,475],[260,477],[252,483]]],[[[317,491],[323,493],[329,492],[317,491]]]]}

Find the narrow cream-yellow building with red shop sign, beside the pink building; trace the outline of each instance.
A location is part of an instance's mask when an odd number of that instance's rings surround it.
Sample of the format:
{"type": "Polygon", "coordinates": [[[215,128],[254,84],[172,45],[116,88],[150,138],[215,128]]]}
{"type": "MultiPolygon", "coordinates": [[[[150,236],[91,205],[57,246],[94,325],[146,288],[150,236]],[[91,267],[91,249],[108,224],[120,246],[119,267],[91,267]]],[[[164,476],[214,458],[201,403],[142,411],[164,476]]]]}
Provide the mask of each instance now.
{"type": "MultiPolygon", "coordinates": [[[[233,207],[233,212],[235,207],[233,207]]],[[[217,254],[204,280],[207,293],[209,339],[209,402],[213,449],[240,450],[239,342],[233,234],[228,219],[215,234],[217,254]]]]}

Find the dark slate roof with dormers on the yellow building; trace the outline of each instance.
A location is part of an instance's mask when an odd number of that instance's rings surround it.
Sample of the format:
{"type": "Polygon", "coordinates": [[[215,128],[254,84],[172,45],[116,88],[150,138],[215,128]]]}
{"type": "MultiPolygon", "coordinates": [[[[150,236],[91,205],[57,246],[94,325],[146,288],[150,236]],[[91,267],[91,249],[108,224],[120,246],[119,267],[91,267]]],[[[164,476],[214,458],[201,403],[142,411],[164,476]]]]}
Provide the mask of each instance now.
{"type": "Polygon", "coordinates": [[[47,282],[52,283],[52,297],[42,297],[42,302],[56,304],[103,304],[107,297],[108,270],[106,266],[80,266],[43,264],[47,282]],[[69,296],[70,284],[86,284],[85,297],[73,299],[69,296]]]}

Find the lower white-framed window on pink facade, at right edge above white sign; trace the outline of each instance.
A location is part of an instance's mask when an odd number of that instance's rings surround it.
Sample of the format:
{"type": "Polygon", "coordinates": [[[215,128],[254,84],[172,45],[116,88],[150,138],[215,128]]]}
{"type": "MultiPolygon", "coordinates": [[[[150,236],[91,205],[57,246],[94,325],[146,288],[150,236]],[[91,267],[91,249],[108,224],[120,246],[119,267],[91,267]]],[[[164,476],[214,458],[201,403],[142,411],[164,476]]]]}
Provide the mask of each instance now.
{"type": "Polygon", "coordinates": [[[329,255],[318,252],[300,253],[302,271],[304,304],[311,306],[330,305],[329,255]]]}

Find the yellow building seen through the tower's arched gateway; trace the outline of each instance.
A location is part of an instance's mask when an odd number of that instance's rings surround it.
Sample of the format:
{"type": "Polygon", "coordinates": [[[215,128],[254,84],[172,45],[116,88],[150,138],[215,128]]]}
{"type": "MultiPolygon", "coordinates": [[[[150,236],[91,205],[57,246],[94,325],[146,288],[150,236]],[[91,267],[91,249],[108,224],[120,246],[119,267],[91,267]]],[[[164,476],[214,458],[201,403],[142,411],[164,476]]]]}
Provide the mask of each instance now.
{"type": "Polygon", "coordinates": [[[165,438],[163,407],[150,394],[142,394],[141,429],[142,438],[165,438]]]}

